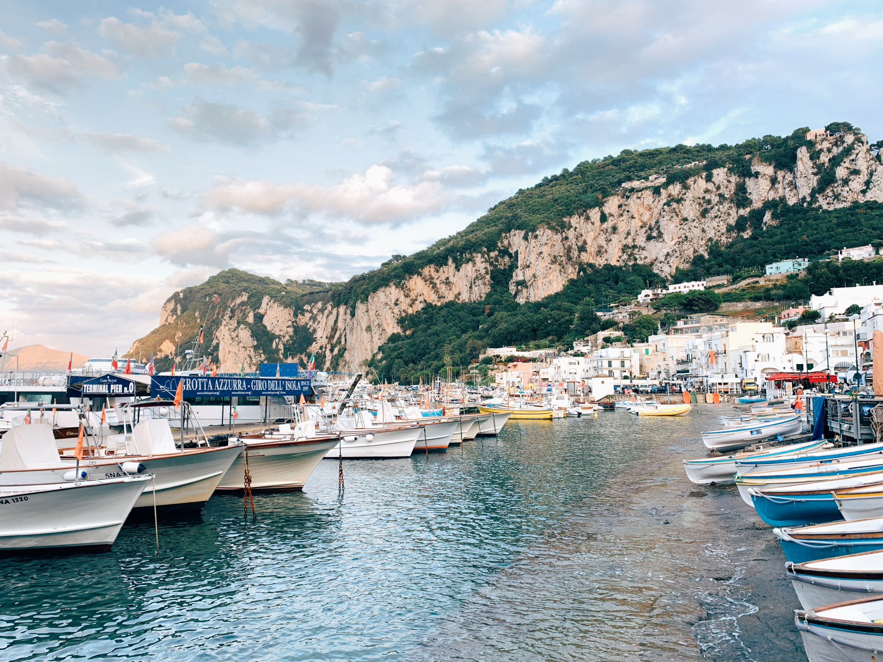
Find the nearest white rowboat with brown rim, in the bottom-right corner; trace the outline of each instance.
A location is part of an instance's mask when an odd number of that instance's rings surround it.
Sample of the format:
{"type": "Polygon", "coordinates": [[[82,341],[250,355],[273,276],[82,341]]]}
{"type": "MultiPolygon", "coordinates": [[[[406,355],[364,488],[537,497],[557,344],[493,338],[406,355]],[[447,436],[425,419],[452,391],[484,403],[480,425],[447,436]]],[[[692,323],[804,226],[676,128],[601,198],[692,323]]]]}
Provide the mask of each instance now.
{"type": "Polygon", "coordinates": [[[797,611],[809,662],[874,662],[883,651],[883,599],[869,596],[797,611]]]}

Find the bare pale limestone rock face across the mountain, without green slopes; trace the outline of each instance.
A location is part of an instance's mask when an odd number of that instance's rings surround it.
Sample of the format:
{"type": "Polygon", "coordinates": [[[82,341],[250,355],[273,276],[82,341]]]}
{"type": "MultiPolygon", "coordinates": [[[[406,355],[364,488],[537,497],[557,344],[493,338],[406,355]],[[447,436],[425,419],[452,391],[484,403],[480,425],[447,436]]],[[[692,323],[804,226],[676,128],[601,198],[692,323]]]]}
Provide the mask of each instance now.
{"type": "MultiPolygon", "coordinates": [[[[799,148],[793,169],[775,169],[755,156],[751,177],[717,168],[668,186],[660,176],[644,184],[627,183],[603,199],[600,208],[565,219],[564,229],[513,230],[500,237],[495,251],[461,256],[458,264],[449,259],[441,267],[424,267],[354,305],[334,305],[330,297],[319,297],[296,311],[274,294],[263,295],[260,304],[249,303],[253,295],[244,291],[218,305],[225,312],[212,349],[223,371],[238,371],[243,363],[253,369],[260,361],[282,360],[292,336],[308,329],[312,342],[304,356],[314,352],[326,358],[324,365],[361,372],[389,335],[401,331],[403,315],[427,304],[482,300],[491,290],[494,268],[511,268],[509,291],[517,301],[537,301],[562,290],[580,265],[589,262],[639,262],[671,274],[697,253],[707,254],[712,241],[735,238],[739,217],[771,200],[826,209],[883,201],[883,166],[864,135],[821,135],[813,145],[813,150],[799,148]],[[828,166],[834,159],[831,177],[828,166]],[[816,191],[823,177],[828,177],[824,191],[816,191]],[[268,337],[258,342],[256,334],[268,337]]],[[[765,222],[771,222],[769,214],[765,222]]],[[[162,306],[161,325],[182,324],[185,318],[187,312],[175,297],[162,306]]]]}

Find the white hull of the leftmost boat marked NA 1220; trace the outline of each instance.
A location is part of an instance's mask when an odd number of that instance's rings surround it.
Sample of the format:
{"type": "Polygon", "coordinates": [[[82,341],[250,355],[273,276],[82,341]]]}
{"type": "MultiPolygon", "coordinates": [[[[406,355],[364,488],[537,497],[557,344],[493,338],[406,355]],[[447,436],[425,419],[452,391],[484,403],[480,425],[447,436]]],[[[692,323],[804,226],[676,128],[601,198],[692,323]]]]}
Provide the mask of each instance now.
{"type": "Polygon", "coordinates": [[[31,485],[30,492],[26,486],[21,491],[4,487],[0,497],[0,551],[55,547],[107,550],[149,483],[148,476],[131,476],[65,485],[31,485]]]}

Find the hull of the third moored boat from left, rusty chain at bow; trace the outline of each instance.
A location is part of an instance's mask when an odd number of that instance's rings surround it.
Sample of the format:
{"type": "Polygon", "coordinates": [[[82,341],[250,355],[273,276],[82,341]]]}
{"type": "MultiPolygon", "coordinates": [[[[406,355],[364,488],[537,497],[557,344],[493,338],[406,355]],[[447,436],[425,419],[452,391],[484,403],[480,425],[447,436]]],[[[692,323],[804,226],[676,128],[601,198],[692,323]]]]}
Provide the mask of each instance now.
{"type": "MultiPolygon", "coordinates": [[[[328,450],[337,445],[337,437],[246,443],[243,454],[247,450],[253,492],[298,492],[328,450]]],[[[216,489],[221,493],[245,489],[244,455],[236,458],[216,489]]]]}

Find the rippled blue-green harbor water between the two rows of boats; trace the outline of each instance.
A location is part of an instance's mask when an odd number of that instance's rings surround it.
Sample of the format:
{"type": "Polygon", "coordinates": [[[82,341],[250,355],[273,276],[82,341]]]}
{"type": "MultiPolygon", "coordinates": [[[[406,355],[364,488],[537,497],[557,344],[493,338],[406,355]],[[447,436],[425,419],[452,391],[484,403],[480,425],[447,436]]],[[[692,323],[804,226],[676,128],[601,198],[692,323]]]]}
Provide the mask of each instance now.
{"type": "Polygon", "coordinates": [[[109,553],[2,562],[4,660],[805,659],[766,524],[681,460],[731,405],[510,421],[109,553]]]}

